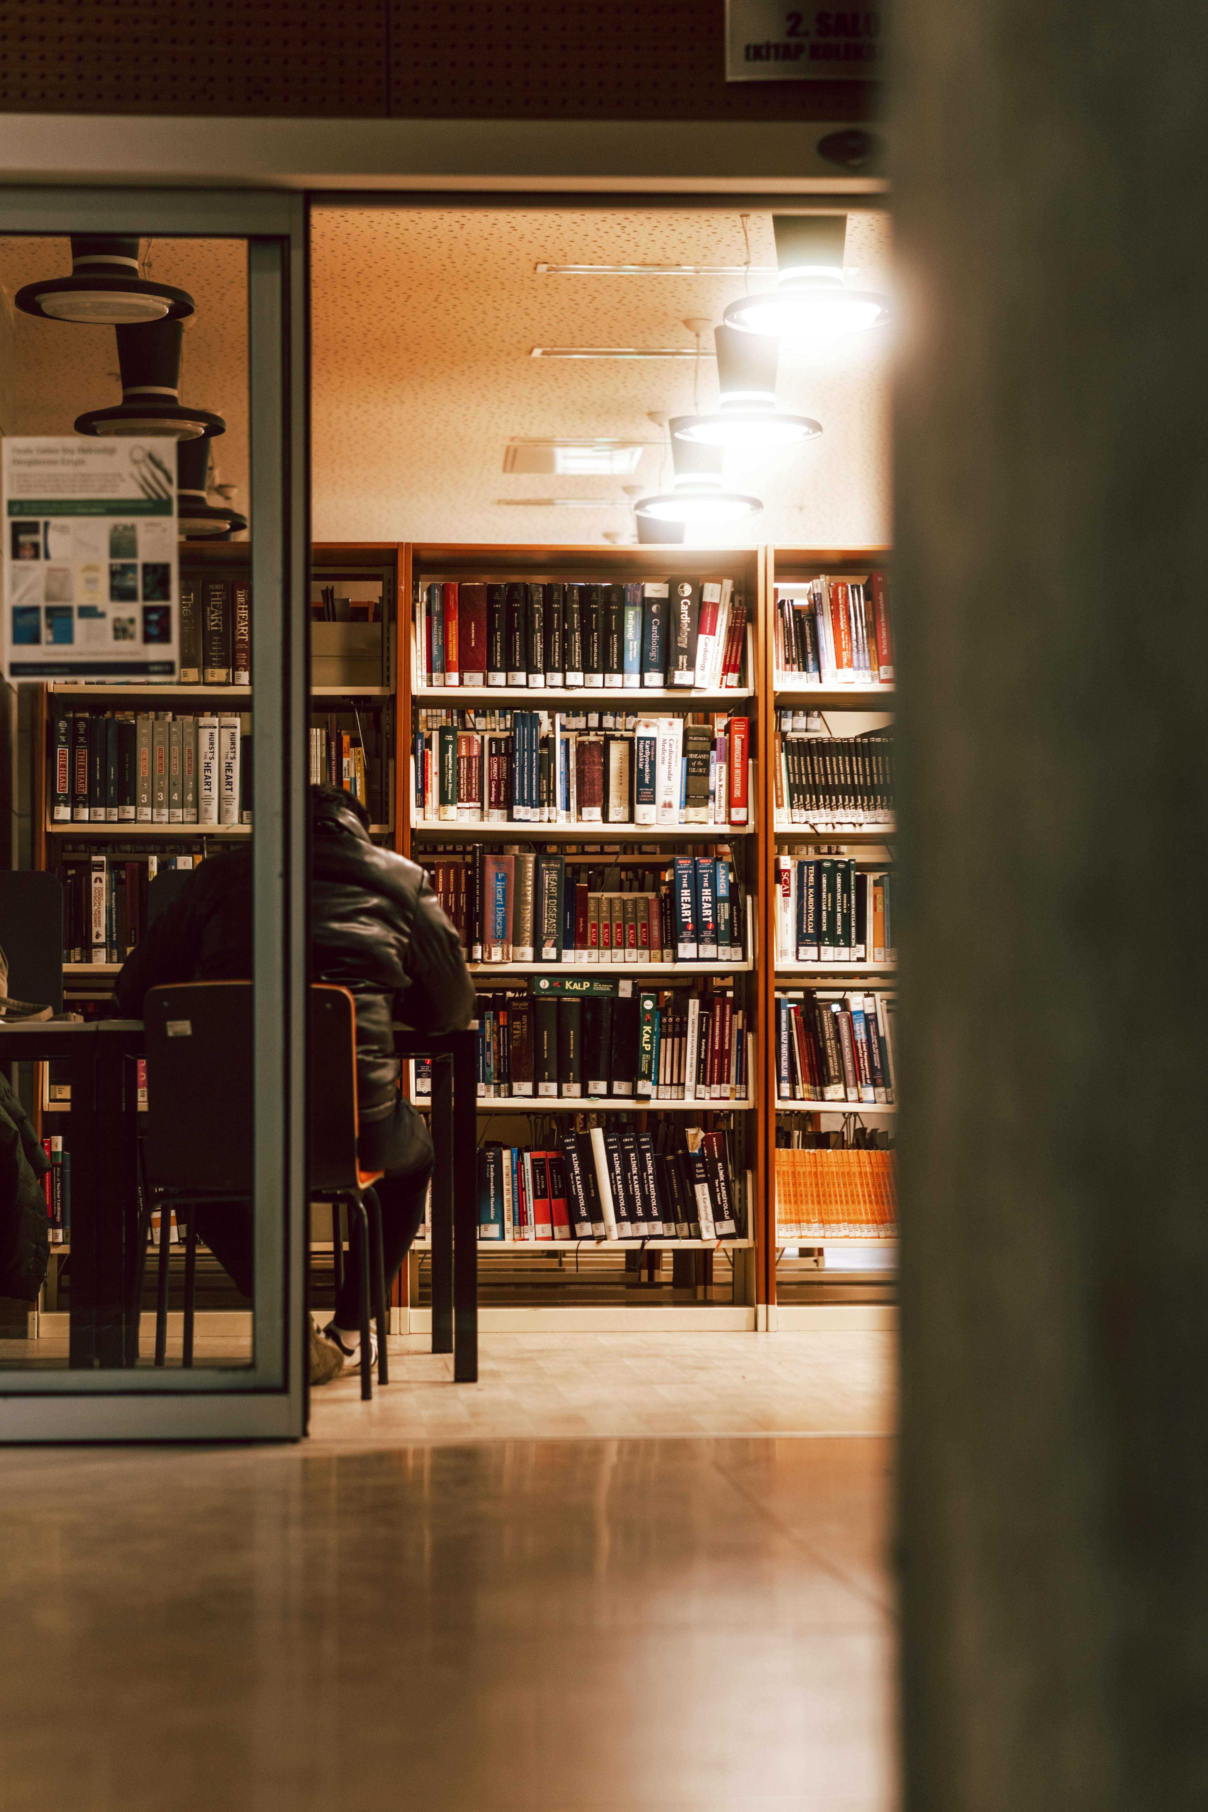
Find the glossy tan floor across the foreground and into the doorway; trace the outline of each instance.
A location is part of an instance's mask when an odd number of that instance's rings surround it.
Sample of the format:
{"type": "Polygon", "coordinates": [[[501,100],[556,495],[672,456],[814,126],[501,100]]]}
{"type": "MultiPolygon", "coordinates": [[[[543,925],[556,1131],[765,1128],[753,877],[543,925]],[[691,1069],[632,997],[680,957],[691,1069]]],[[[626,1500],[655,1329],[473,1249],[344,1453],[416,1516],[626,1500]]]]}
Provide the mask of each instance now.
{"type": "MultiPolygon", "coordinates": [[[[697,1339],[692,1413],[779,1339],[697,1339]]],[[[400,1350],[299,1448],[0,1453],[5,1812],[891,1812],[889,1439],[820,1384],[793,1435],[509,1437],[580,1345],[487,1337],[503,1439],[391,1439],[462,1393],[400,1350]]]]}

